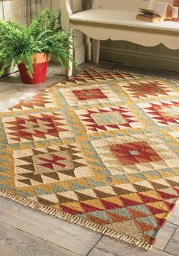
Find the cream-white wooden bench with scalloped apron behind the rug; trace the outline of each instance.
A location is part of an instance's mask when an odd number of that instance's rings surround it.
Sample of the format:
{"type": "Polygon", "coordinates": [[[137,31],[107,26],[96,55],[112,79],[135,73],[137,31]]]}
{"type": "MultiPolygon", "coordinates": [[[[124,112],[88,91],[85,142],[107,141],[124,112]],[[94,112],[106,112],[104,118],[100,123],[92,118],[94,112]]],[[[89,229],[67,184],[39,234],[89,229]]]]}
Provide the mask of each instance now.
{"type": "MultiPolygon", "coordinates": [[[[146,47],[162,43],[170,49],[179,49],[179,22],[136,20],[138,8],[147,8],[149,1],[93,0],[91,9],[77,13],[72,13],[70,0],[60,0],[60,5],[62,28],[79,30],[92,38],[94,63],[99,61],[100,41],[107,39],[130,41],[146,47]]],[[[69,63],[68,76],[71,75],[72,63],[69,63]]]]}

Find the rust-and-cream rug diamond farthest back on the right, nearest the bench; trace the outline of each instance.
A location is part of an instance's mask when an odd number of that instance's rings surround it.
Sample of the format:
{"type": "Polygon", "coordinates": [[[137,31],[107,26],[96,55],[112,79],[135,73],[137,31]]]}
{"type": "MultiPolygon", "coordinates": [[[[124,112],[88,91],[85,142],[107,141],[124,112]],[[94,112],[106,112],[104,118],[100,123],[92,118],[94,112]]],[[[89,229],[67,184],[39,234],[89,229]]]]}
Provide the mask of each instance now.
{"type": "Polygon", "coordinates": [[[152,98],[159,96],[177,96],[177,92],[158,80],[135,81],[121,84],[132,99],[152,98]]]}

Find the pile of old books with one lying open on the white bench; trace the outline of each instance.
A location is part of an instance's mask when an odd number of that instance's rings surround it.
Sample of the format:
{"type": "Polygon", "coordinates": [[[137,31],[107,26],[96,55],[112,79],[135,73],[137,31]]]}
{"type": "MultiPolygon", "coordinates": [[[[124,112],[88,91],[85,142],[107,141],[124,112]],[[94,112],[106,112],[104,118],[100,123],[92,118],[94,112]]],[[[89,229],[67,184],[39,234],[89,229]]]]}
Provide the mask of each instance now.
{"type": "Polygon", "coordinates": [[[136,19],[150,22],[160,22],[170,20],[172,15],[172,8],[167,2],[160,2],[151,0],[149,7],[139,8],[139,14],[136,15],[136,19]]]}

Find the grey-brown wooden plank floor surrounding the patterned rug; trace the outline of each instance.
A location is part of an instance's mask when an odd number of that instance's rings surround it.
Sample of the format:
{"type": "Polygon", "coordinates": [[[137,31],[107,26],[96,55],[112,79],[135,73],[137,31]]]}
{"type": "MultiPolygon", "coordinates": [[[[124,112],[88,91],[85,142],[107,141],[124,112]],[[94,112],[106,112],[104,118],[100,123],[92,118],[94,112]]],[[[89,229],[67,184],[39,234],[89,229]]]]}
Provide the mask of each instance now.
{"type": "MultiPolygon", "coordinates": [[[[82,70],[92,66],[82,65],[82,70]]],[[[101,63],[107,69],[126,69],[138,73],[178,79],[177,73],[145,70],[101,63]]],[[[18,73],[0,79],[0,110],[8,109],[20,100],[30,99],[36,92],[64,79],[63,70],[51,64],[46,83],[23,85],[18,73]]],[[[0,256],[179,256],[179,204],[161,231],[151,251],[109,238],[56,217],[33,210],[10,199],[0,197],[0,256]]]]}

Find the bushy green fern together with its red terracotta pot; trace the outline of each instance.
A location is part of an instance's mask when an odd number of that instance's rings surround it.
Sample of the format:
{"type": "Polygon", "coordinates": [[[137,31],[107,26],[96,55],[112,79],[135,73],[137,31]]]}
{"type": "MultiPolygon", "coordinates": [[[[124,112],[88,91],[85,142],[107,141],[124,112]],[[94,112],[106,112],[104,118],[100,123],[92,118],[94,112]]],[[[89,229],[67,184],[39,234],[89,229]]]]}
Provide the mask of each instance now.
{"type": "Polygon", "coordinates": [[[45,9],[24,27],[14,21],[0,21],[0,76],[8,66],[18,65],[23,83],[43,83],[50,57],[68,68],[73,60],[69,47],[71,32],[62,31],[61,15],[45,9]]]}

